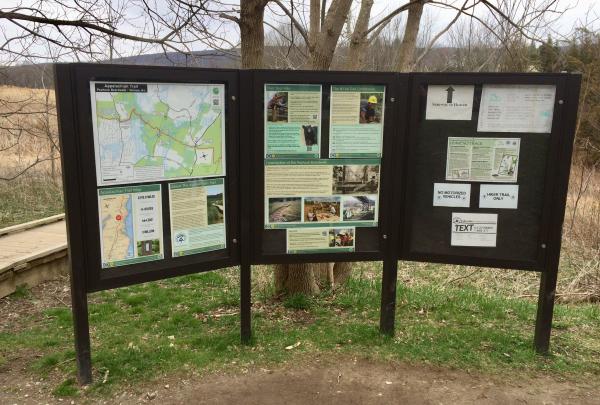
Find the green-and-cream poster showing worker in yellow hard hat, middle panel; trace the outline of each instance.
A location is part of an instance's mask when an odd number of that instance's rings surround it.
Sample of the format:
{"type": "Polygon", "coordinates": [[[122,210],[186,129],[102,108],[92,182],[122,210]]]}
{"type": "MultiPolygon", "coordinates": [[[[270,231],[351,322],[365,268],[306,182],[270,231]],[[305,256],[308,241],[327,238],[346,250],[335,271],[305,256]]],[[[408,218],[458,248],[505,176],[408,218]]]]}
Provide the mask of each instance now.
{"type": "Polygon", "coordinates": [[[332,85],[329,157],[381,157],[385,86],[332,85]]]}

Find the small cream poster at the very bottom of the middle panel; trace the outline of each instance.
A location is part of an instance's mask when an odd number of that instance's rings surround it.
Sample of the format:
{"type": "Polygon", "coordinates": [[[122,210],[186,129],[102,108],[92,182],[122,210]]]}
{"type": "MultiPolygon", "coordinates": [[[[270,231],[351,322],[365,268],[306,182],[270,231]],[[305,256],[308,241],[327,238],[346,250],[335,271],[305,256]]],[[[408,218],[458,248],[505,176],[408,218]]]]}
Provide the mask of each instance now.
{"type": "Polygon", "coordinates": [[[288,254],[354,252],[355,244],[356,229],[352,227],[320,227],[286,231],[288,254]]]}

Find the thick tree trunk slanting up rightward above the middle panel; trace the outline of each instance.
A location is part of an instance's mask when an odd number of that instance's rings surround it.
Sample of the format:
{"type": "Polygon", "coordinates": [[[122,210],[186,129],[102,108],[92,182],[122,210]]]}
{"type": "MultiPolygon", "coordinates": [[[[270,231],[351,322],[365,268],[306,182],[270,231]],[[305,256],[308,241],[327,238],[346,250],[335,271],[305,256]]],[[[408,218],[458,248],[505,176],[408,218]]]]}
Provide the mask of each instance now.
{"type": "Polygon", "coordinates": [[[335,47],[337,46],[351,5],[352,0],[333,0],[331,2],[327,17],[325,17],[325,23],[321,27],[321,32],[313,47],[311,55],[311,67],[313,69],[329,70],[335,47]]]}

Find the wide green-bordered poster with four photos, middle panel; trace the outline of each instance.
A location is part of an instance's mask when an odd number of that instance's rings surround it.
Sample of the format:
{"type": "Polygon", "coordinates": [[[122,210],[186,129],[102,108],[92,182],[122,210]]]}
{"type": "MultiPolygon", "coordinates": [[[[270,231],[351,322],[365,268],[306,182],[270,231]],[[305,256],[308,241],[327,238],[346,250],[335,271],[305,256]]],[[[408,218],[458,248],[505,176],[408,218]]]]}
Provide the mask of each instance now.
{"type": "Polygon", "coordinates": [[[265,229],[377,226],[380,159],[265,161],[265,229]]]}

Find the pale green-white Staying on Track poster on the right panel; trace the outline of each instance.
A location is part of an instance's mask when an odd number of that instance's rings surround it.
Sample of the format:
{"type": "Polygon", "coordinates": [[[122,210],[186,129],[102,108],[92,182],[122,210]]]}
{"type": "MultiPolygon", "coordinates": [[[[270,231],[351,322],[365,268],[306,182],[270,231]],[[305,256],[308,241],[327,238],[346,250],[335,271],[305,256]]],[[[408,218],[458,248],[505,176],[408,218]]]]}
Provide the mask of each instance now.
{"type": "Polygon", "coordinates": [[[519,138],[449,137],[446,180],[516,183],[519,138]]]}

